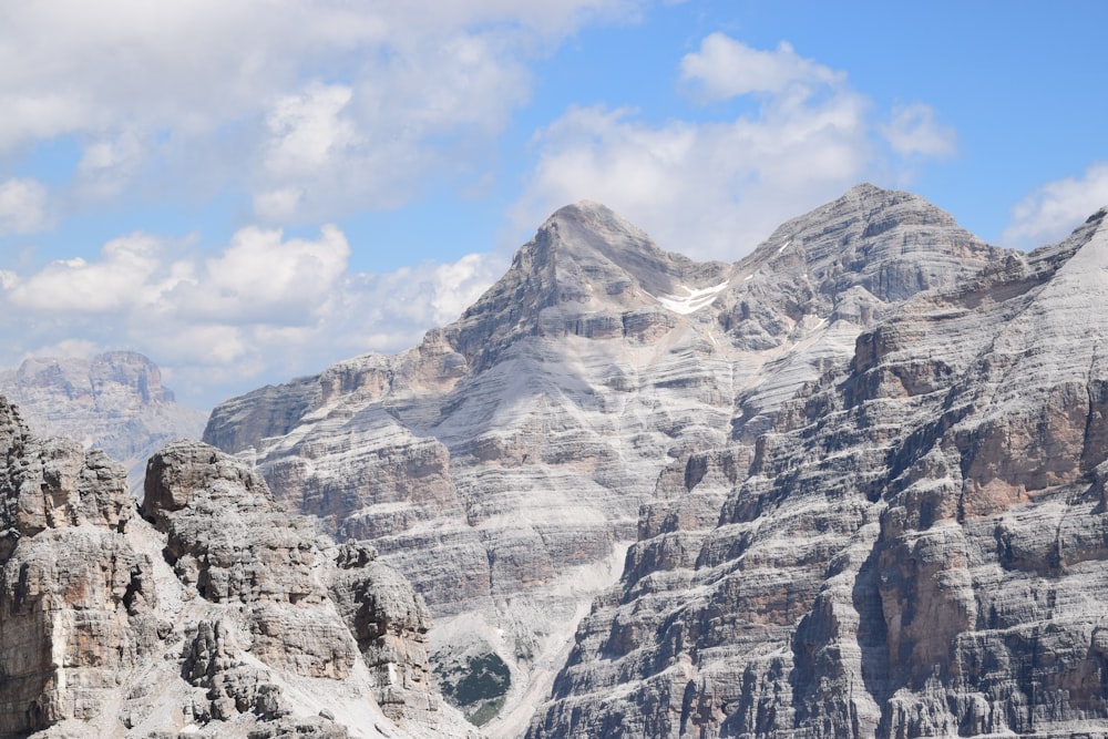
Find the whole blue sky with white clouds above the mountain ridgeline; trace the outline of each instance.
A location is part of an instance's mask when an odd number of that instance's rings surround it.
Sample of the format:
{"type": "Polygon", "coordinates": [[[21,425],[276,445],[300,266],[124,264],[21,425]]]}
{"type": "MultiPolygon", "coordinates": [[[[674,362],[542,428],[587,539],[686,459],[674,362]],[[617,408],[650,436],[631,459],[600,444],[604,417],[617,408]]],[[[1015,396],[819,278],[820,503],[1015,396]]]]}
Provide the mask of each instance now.
{"type": "Polygon", "coordinates": [[[445,324],[558,206],[736,260],[861,181],[1108,204],[1101,2],[0,0],[0,367],[206,408],[445,324]]]}

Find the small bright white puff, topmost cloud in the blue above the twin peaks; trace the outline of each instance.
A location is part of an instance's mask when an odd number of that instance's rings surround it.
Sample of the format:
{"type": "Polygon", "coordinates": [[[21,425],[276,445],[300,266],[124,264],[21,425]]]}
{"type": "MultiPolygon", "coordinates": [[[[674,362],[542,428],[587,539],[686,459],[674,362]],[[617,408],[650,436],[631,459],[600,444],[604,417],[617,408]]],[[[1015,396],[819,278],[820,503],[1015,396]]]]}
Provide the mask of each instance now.
{"type": "Polygon", "coordinates": [[[712,33],[699,52],[681,60],[681,78],[699,85],[707,100],[717,101],[756,92],[778,94],[794,85],[834,84],[845,75],[801,58],[784,42],[776,51],[759,51],[712,33]]]}

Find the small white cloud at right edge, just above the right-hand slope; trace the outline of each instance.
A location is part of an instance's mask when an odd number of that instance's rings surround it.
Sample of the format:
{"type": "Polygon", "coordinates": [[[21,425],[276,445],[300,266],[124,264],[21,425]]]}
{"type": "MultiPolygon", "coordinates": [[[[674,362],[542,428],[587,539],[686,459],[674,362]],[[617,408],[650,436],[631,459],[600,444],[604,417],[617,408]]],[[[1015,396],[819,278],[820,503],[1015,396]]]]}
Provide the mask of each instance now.
{"type": "Polygon", "coordinates": [[[1001,243],[1026,249],[1059,242],[1106,205],[1108,163],[1094,164],[1081,177],[1048,183],[1019,201],[1001,243]]]}

